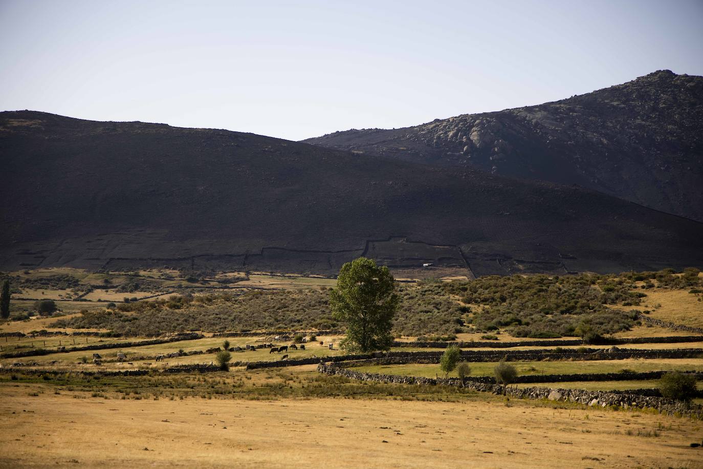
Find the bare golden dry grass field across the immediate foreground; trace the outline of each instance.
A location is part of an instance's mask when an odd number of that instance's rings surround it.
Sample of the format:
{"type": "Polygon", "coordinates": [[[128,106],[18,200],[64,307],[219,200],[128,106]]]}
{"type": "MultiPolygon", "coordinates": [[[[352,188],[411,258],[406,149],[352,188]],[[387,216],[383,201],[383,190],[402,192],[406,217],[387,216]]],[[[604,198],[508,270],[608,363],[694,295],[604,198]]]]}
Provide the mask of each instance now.
{"type": "Polygon", "coordinates": [[[134,401],[32,390],[0,386],[4,467],[700,467],[689,446],[699,423],[639,412],[497,397],[134,401]]]}

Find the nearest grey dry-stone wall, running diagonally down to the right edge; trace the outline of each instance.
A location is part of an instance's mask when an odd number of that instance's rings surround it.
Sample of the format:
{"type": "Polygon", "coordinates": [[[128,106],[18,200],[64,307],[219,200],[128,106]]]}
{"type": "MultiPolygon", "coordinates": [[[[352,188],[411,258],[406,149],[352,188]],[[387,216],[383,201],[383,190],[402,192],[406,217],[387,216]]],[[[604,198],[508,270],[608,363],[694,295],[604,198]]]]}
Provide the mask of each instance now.
{"type": "Polygon", "coordinates": [[[349,368],[342,368],[333,364],[319,364],[318,373],[328,375],[341,375],[354,380],[376,381],[380,383],[397,383],[406,385],[448,385],[462,386],[468,389],[492,392],[494,394],[504,394],[509,397],[520,399],[550,399],[553,401],[570,401],[586,404],[589,406],[619,406],[624,409],[657,409],[659,412],[668,415],[691,416],[703,418],[703,406],[698,404],[686,404],[681,401],[664,399],[663,397],[641,396],[637,394],[619,394],[603,391],[552,389],[549,387],[510,387],[494,385],[489,383],[479,383],[474,380],[465,379],[463,383],[458,378],[420,378],[416,376],[385,375],[381,373],[361,373],[349,368]]]}

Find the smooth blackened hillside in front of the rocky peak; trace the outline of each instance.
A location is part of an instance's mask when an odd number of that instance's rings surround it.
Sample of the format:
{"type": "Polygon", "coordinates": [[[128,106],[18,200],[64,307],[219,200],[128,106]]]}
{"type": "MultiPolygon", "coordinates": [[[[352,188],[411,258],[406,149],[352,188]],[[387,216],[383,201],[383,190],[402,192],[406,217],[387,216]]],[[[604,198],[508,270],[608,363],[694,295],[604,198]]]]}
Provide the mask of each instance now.
{"type": "Polygon", "coordinates": [[[254,134],[6,112],[0,165],[6,269],[703,266],[703,224],[607,195],[254,134]]]}

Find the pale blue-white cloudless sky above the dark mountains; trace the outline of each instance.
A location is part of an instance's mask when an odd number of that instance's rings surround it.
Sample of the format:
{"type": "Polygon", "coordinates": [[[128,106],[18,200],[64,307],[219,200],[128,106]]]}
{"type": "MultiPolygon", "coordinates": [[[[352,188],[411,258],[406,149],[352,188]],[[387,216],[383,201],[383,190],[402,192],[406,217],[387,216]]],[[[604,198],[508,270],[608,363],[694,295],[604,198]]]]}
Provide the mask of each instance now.
{"type": "Polygon", "coordinates": [[[300,140],[703,75],[703,0],[0,0],[0,110],[300,140]]]}

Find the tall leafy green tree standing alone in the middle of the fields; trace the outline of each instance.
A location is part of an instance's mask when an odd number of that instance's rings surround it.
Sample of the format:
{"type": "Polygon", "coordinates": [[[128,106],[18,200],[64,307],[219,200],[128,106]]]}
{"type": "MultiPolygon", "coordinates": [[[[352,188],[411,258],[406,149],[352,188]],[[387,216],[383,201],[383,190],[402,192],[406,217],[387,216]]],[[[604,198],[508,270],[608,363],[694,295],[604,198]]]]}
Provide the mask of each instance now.
{"type": "Polygon", "coordinates": [[[347,326],[341,347],[349,352],[387,350],[399,297],[388,267],[359,257],[342,266],[337,286],[330,292],[335,319],[347,326]]]}

